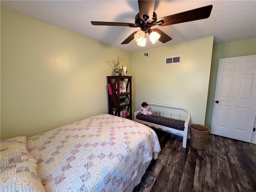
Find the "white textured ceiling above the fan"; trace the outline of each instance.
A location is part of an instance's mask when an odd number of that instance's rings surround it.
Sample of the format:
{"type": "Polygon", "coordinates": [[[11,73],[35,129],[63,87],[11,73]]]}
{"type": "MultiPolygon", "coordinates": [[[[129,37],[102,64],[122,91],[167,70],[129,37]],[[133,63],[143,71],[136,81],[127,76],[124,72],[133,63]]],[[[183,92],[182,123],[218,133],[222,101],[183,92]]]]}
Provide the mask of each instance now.
{"type": "MultiPolygon", "coordinates": [[[[90,21],[134,23],[139,12],[136,0],[86,1],[2,1],[1,6],[32,18],[59,26],[100,42],[128,50],[145,50],[135,40],[121,45],[137,29],[124,26],[93,26],[90,21]]],[[[148,49],[214,36],[214,43],[256,38],[256,1],[186,0],[156,1],[158,18],[213,5],[209,18],[171,26],[159,27],[172,40],[163,44],[148,43],[148,49]]]]}

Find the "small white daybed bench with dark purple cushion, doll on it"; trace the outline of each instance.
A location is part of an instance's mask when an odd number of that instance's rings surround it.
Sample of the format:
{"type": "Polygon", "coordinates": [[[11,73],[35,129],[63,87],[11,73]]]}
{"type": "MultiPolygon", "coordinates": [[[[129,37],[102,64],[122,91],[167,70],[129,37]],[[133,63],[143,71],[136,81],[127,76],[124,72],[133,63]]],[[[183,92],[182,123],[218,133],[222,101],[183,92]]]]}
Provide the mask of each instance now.
{"type": "Polygon", "coordinates": [[[190,112],[180,106],[166,105],[147,102],[152,107],[152,115],[143,115],[140,110],[134,112],[134,121],[149,127],[158,128],[172,134],[183,137],[182,147],[186,148],[188,137],[188,124],[190,122],[190,112]],[[154,110],[154,108],[158,110],[154,110]],[[165,108],[163,111],[161,109],[165,108]],[[160,110],[159,110],[160,109],[160,110]],[[174,110],[174,112],[171,112],[174,110]],[[183,112],[178,114],[175,112],[183,112]]]}

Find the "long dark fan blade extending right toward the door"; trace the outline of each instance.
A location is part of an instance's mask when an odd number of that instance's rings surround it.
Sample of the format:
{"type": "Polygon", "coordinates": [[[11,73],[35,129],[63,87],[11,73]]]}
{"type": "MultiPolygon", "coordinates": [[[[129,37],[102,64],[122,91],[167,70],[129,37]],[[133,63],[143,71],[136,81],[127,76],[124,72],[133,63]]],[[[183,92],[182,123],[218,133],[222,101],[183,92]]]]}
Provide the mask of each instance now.
{"type": "Polygon", "coordinates": [[[156,23],[162,20],[164,22],[162,25],[159,25],[159,26],[167,26],[167,25],[173,25],[173,24],[195,21],[200,19],[206,19],[210,16],[211,11],[212,11],[212,5],[208,5],[208,6],[204,6],[204,7],[200,7],[200,8],[192,9],[189,11],[159,18],[156,21],[156,23]]]}

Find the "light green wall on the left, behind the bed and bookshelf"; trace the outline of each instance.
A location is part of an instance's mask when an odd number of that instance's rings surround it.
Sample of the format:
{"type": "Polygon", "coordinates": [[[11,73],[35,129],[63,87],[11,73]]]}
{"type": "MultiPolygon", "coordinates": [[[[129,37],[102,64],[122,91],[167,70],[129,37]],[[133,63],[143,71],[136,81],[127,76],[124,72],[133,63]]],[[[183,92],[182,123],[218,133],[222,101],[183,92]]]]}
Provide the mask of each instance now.
{"type": "Polygon", "coordinates": [[[1,7],[1,140],[107,113],[105,63],[132,54],[1,7]]]}

